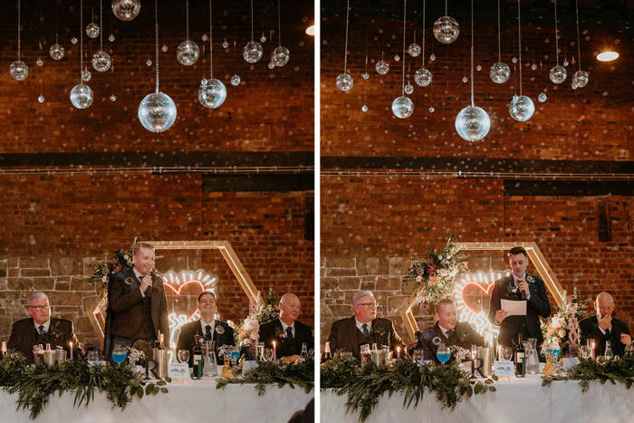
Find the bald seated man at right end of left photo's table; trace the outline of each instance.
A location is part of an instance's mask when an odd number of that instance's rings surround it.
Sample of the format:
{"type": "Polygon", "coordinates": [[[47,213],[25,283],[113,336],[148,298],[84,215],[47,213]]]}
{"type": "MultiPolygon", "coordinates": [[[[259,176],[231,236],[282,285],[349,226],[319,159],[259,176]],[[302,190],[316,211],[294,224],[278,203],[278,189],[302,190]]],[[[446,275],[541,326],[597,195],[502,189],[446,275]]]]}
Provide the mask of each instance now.
{"type": "Polygon", "coordinates": [[[275,355],[278,359],[298,361],[302,344],[306,344],[307,350],[312,350],[314,346],[311,327],[297,320],[301,310],[297,295],[284,293],[280,298],[280,318],[260,326],[260,341],[264,341],[266,348],[273,348],[275,341],[275,355]]]}

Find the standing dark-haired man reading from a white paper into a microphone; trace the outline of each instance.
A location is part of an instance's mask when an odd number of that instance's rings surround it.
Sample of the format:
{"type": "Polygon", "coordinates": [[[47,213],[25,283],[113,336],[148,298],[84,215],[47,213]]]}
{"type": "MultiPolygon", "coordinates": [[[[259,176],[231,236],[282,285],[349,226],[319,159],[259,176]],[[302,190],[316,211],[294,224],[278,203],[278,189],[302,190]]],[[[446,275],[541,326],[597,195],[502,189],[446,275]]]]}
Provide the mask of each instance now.
{"type": "Polygon", "coordinates": [[[526,274],[528,255],[523,247],[511,248],[508,257],[513,274],[495,281],[489,303],[489,320],[500,325],[500,345],[511,345],[512,341],[518,341],[519,334],[522,334],[524,340],[535,338],[539,345],[543,341],[539,316],[545,319],[551,315],[546,285],[536,274],[526,274]],[[500,300],[503,298],[526,301],[526,315],[507,316],[508,313],[501,306],[500,300]]]}

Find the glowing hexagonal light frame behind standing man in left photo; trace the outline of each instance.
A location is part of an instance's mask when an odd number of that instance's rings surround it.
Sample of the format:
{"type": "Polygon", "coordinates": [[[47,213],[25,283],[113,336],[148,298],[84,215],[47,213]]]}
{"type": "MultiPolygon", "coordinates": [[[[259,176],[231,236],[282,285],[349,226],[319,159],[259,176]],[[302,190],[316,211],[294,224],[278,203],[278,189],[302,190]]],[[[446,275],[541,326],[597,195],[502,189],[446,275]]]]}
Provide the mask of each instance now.
{"type": "MultiPolygon", "coordinates": [[[[218,250],[229,265],[231,272],[235,275],[238,283],[249,298],[249,303],[259,305],[263,302],[260,292],[255,288],[251,276],[246,272],[234,248],[229,241],[145,241],[154,246],[154,250],[218,250]]],[[[107,291],[104,290],[101,296],[93,303],[89,312],[89,319],[95,333],[98,334],[101,344],[103,344],[103,328],[105,326],[105,310],[107,291]]]]}

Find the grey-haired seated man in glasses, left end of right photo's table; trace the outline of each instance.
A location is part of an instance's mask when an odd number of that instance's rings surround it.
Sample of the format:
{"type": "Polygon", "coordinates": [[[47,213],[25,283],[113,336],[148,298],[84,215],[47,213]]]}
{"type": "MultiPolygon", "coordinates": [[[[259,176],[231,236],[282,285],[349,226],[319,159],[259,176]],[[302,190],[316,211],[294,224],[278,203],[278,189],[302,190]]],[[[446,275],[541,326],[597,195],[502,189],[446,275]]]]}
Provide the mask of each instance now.
{"type": "MultiPolygon", "coordinates": [[[[377,318],[377,301],[371,291],[360,291],[352,297],[354,315],[332,323],[331,351],[351,351],[360,358],[360,346],[376,343],[380,348],[388,345],[390,349],[403,348],[403,341],[394,330],[394,324],[388,319],[377,318]]],[[[404,351],[404,350],[403,350],[404,351]]]]}

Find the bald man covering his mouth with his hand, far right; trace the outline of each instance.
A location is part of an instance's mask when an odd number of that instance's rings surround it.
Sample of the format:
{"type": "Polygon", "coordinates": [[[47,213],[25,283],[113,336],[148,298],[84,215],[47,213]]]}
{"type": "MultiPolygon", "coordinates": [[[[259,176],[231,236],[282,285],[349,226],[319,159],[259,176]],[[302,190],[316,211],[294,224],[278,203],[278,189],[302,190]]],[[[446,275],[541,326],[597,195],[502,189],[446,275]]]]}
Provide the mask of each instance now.
{"type": "Polygon", "coordinates": [[[613,317],[614,299],[610,293],[597,295],[595,307],[596,315],[579,322],[581,345],[585,345],[586,340],[594,340],[594,353],[599,356],[605,354],[605,342],[610,341],[614,355],[623,357],[625,347],[632,343],[632,337],[628,324],[613,317]]]}

